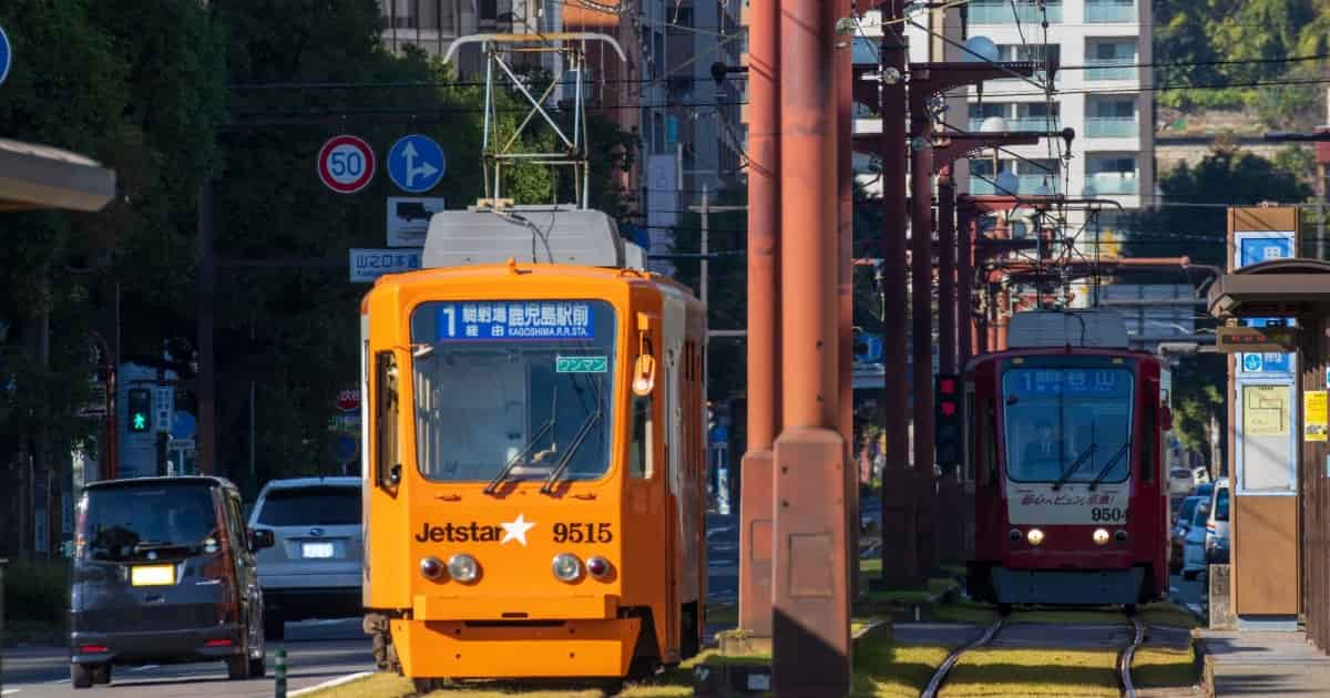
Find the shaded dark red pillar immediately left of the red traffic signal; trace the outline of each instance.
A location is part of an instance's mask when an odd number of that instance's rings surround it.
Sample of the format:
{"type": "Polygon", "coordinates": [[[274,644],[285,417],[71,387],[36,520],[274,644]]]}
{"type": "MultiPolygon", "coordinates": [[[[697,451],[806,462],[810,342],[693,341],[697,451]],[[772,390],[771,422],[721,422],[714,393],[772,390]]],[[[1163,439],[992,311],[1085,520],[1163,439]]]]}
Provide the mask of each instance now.
{"type": "Polygon", "coordinates": [[[911,114],[910,307],[914,330],[914,471],[920,572],[938,568],[938,492],[932,476],[932,121],[911,114]]]}

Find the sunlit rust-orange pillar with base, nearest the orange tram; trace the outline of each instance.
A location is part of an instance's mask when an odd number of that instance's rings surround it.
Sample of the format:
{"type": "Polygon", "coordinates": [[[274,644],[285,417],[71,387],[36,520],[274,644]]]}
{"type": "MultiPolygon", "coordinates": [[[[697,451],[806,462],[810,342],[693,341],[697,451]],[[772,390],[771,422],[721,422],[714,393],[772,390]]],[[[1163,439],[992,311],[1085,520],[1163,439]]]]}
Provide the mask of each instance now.
{"type": "Polygon", "coordinates": [[[739,488],[739,628],[771,637],[771,501],[779,431],[779,8],[749,15],[747,452],[739,488]]]}

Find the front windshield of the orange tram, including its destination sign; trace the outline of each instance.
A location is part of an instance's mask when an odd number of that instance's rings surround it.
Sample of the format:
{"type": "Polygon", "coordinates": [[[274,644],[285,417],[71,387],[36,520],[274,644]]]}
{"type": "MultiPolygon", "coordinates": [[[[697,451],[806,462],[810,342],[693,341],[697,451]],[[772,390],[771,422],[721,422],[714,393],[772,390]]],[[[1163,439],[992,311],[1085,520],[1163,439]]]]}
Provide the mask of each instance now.
{"type": "Polygon", "coordinates": [[[436,481],[597,480],[609,468],[614,310],[424,303],[411,316],[416,457],[436,481]]]}

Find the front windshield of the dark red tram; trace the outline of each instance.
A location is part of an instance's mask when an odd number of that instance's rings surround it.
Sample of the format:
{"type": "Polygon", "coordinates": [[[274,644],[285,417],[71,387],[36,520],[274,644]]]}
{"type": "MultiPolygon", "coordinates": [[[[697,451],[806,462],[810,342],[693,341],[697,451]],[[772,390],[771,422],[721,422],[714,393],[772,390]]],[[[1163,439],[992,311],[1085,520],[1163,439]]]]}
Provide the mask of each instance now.
{"type": "Polygon", "coordinates": [[[1009,368],[1003,402],[1011,480],[1121,483],[1130,473],[1130,371],[1009,368]]]}

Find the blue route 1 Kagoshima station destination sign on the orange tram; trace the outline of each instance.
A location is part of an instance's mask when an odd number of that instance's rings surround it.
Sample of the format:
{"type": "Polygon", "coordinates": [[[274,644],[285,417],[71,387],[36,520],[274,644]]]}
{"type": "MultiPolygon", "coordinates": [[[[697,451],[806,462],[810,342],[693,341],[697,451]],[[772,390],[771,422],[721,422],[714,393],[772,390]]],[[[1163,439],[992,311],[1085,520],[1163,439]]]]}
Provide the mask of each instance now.
{"type": "Polygon", "coordinates": [[[596,338],[587,302],[439,303],[438,311],[440,342],[596,338]]]}

